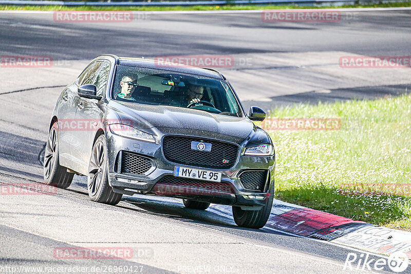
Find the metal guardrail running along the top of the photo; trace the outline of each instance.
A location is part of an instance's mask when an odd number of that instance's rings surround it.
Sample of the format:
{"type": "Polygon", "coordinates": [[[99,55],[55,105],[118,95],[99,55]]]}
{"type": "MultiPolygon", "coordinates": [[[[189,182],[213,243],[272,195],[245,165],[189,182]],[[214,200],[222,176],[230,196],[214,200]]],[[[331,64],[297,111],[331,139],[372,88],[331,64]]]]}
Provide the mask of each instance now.
{"type": "MultiPolygon", "coordinates": [[[[382,3],[401,1],[382,1],[382,3]]],[[[354,5],[377,4],[379,0],[215,0],[215,1],[170,1],[170,2],[65,2],[65,1],[37,1],[37,0],[0,0],[0,5],[38,5],[38,6],[201,6],[201,5],[294,5],[323,6],[323,5],[354,5]]]]}

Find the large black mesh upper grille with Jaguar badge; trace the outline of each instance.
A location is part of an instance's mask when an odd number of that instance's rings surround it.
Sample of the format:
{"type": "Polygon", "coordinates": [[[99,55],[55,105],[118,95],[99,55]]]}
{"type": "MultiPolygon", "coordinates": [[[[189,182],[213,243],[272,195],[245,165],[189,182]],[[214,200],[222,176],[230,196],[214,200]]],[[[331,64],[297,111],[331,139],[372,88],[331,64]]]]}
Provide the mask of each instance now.
{"type": "Polygon", "coordinates": [[[184,136],[163,138],[164,157],[170,162],[203,168],[230,169],[235,165],[239,147],[234,144],[184,136]],[[211,144],[211,151],[191,149],[191,142],[211,144]]]}

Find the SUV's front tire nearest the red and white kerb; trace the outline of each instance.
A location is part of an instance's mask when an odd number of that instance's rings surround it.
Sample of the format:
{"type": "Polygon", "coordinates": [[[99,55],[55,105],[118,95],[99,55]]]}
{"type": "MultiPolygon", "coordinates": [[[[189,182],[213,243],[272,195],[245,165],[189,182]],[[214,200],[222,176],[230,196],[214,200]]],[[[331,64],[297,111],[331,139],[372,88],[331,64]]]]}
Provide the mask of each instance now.
{"type": "Polygon", "coordinates": [[[233,206],[234,221],[238,226],[249,228],[261,228],[266,225],[270,217],[274,201],[274,187],[270,191],[270,197],[260,210],[242,210],[239,206],[233,206]]]}

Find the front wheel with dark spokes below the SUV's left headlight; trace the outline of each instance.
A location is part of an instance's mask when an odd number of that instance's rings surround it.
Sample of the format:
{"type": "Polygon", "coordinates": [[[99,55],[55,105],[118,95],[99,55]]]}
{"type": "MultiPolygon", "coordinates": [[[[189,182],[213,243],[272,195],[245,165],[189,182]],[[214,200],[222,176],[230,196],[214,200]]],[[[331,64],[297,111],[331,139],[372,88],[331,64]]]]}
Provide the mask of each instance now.
{"type": "Polygon", "coordinates": [[[104,135],[97,138],[88,164],[87,189],[91,201],[117,205],[123,194],[116,193],[108,184],[107,143],[104,135]]]}

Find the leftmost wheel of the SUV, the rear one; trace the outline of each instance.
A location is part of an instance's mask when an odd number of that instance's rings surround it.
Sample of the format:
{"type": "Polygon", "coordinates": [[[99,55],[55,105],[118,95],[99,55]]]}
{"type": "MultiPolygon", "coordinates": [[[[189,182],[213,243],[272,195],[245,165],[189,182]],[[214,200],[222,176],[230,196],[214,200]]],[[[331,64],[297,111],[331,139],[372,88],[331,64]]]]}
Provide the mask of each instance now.
{"type": "Polygon", "coordinates": [[[51,126],[44,150],[43,167],[44,182],[46,185],[54,185],[58,188],[67,188],[71,185],[74,174],[67,172],[67,168],[60,165],[58,122],[54,122],[51,126]]]}

